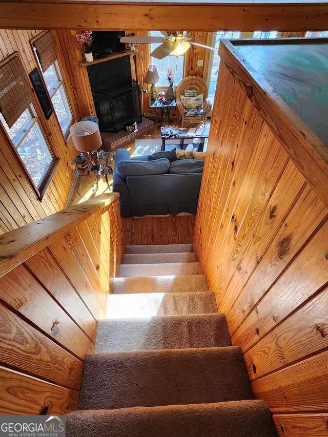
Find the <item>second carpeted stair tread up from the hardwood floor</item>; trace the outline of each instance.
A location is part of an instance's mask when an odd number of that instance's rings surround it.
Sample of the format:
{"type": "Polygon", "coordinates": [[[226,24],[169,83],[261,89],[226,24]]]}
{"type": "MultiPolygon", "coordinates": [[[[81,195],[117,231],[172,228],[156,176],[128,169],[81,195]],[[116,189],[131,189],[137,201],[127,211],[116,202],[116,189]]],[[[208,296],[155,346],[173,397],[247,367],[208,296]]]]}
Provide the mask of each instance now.
{"type": "Polygon", "coordinates": [[[195,252],[165,254],[125,254],[123,264],[160,264],[172,262],[197,262],[195,252]]]}

